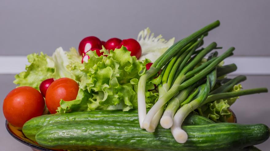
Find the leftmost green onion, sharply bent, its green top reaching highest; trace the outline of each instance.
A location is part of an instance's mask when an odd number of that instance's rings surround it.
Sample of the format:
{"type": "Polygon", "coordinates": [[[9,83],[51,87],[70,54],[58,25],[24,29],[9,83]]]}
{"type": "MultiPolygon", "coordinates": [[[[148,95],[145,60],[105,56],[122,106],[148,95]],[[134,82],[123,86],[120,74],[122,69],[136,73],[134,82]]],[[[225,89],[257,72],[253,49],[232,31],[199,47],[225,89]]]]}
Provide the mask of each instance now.
{"type": "MultiPolygon", "coordinates": [[[[146,105],[145,105],[145,85],[146,81],[153,77],[157,72],[170,60],[173,56],[176,56],[177,54],[183,53],[183,48],[191,43],[192,41],[197,40],[202,35],[206,34],[207,32],[211,31],[212,29],[218,27],[220,22],[217,20],[199,31],[196,31],[195,33],[191,34],[190,36],[182,39],[181,41],[175,43],[172,45],[164,54],[162,54],[150,67],[149,70],[147,70],[142,76],[140,77],[139,83],[138,83],[138,117],[139,117],[139,123],[140,127],[143,128],[143,121],[146,117],[146,105]]],[[[165,104],[165,103],[164,103],[165,104]]],[[[163,104],[163,105],[164,105],[163,104]]],[[[162,106],[163,106],[162,105],[162,106]]],[[[160,108],[162,107],[160,106],[160,108]]],[[[158,109],[159,110],[159,109],[158,109]]],[[[154,114],[155,115],[155,114],[154,114]]],[[[153,116],[154,116],[153,115],[153,116]]],[[[151,120],[150,120],[151,121],[151,120]]],[[[150,122],[149,122],[150,123],[150,122]]],[[[149,126],[148,126],[149,127],[149,126]]]]}

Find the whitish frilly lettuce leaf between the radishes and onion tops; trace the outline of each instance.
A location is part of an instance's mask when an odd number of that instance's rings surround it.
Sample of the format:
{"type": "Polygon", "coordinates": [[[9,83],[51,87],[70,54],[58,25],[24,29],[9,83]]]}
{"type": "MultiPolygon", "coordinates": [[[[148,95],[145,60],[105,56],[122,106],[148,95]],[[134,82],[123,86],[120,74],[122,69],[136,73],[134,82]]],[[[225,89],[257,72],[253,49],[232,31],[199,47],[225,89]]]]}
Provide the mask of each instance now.
{"type": "Polygon", "coordinates": [[[174,43],[175,38],[166,41],[161,35],[154,37],[149,27],[140,31],[137,41],[141,45],[142,54],[140,60],[150,59],[155,62],[174,43]],[[151,34],[151,35],[150,35],[151,34]]]}

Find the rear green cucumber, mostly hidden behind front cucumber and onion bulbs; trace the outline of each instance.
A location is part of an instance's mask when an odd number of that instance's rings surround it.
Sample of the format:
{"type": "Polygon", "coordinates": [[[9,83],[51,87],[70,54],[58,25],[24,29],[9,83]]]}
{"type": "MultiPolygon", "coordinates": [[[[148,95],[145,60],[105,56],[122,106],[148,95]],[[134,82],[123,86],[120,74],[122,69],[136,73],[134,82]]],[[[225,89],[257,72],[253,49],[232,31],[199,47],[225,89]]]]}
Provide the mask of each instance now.
{"type": "MultiPolygon", "coordinates": [[[[37,131],[43,126],[53,122],[74,120],[138,122],[138,110],[129,110],[128,112],[123,112],[121,110],[102,110],[42,115],[28,120],[23,125],[22,131],[27,138],[35,141],[35,135],[37,134],[37,131]]],[[[199,125],[209,123],[213,123],[213,121],[199,115],[190,115],[184,121],[184,124],[186,125],[199,125]]]]}

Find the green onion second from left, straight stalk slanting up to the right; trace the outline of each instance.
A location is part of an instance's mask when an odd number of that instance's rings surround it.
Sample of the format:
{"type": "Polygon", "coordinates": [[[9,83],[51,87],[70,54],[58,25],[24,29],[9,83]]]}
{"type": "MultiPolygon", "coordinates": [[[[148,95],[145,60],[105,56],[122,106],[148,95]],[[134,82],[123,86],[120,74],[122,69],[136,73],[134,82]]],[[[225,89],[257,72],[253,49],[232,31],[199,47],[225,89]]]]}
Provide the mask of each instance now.
{"type": "MultiPolygon", "coordinates": [[[[216,46],[214,43],[210,44],[210,45],[214,45],[216,46]]],[[[150,121],[152,120],[153,116],[156,114],[156,112],[164,105],[166,104],[170,99],[172,99],[173,96],[176,95],[176,93],[178,93],[180,90],[183,90],[184,88],[187,88],[188,86],[190,86],[191,84],[194,84],[195,82],[199,81],[200,79],[202,79],[203,77],[205,77],[207,74],[209,74],[214,68],[216,68],[216,66],[225,58],[227,58],[228,56],[230,56],[230,54],[233,52],[234,48],[231,47],[230,49],[228,49],[225,53],[223,53],[221,56],[217,57],[212,63],[210,63],[207,67],[205,67],[203,70],[201,70],[199,73],[195,74],[193,77],[191,77],[190,79],[184,81],[182,84],[181,80],[179,77],[185,79],[185,75],[184,74],[179,74],[179,76],[176,78],[176,81],[174,82],[174,84],[172,85],[172,87],[169,89],[169,91],[163,95],[162,97],[160,97],[158,99],[158,101],[154,104],[154,106],[152,106],[152,108],[149,110],[149,112],[147,113],[145,120],[143,121],[143,128],[148,128],[150,125],[150,121]]],[[[203,53],[200,52],[200,53],[203,53]]],[[[198,57],[201,58],[201,56],[198,54],[198,57]]],[[[195,60],[195,59],[194,59],[195,60]]],[[[193,61],[191,61],[192,63],[193,61]]],[[[194,61],[197,62],[197,61],[194,61]]],[[[187,66],[195,66],[193,64],[188,64],[187,66]]],[[[185,68],[184,68],[185,69],[185,68]]],[[[184,70],[183,69],[183,70],[184,70]]],[[[185,69],[185,72],[187,72],[188,70],[190,70],[189,67],[187,67],[185,69]]]]}

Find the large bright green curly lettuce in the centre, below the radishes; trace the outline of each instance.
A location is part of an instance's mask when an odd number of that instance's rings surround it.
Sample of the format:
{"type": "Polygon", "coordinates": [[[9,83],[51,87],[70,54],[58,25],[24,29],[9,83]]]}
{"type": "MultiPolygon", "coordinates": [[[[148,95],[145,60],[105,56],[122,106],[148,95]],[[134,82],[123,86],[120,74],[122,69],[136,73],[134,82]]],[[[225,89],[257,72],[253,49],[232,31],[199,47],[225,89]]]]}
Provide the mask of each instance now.
{"type": "MultiPolygon", "coordinates": [[[[98,56],[95,51],[89,51],[86,53],[90,57],[88,62],[69,66],[71,74],[79,83],[79,92],[75,100],[61,100],[58,113],[115,109],[128,111],[137,108],[137,84],[150,60],[137,60],[135,56],[130,56],[125,47],[110,50],[110,53],[103,47],[101,52],[107,56],[98,56]]],[[[158,98],[152,89],[160,81],[161,77],[158,77],[147,82],[148,107],[158,98]]]]}

